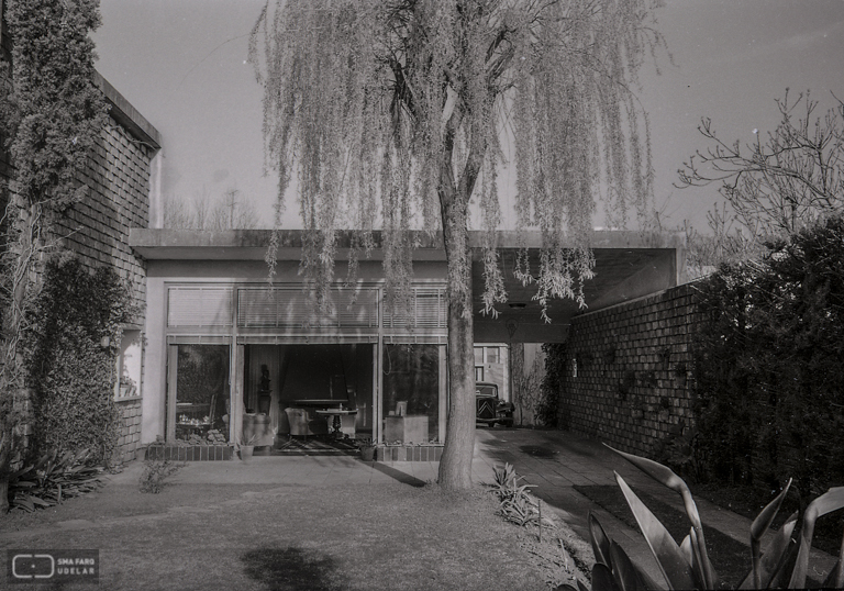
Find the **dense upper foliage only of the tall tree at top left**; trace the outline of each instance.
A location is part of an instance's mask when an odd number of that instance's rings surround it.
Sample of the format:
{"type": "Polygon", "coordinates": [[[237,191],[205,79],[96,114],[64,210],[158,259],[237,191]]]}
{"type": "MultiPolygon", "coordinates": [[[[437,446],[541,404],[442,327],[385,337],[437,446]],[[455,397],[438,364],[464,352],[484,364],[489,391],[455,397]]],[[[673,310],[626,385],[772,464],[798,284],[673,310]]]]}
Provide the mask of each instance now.
{"type": "Polygon", "coordinates": [[[77,175],[106,122],[89,37],[100,24],[99,1],[10,0],[7,5],[12,92],[4,114],[16,192],[60,210],[86,194],[77,175]]]}

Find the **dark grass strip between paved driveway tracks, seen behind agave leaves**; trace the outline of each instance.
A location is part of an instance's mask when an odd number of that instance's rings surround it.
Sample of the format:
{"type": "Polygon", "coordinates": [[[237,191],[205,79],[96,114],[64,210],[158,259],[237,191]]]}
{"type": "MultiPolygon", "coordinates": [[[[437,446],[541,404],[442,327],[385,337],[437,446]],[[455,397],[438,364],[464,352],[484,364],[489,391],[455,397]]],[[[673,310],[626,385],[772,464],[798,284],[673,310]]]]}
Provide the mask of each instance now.
{"type": "MultiPolygon", "coordinates": [[[[624,495],[618,487],[575,486],[575,489],[636,532],[640,531],[633,513],[630,511],[624,495]]],[[[678,544],[689,534],[691,524],[685,512],[678,511],[643,491],[634,489],[634,492],[663,523],[678,544]]],[[[702,515],[702,517],[706,518],[706,515],[702,515]]],[[[607,534],[612,537],[612,532],[607,532],[607,534]]],[[[715,571],[730,587],[737,587],[751,568],[749,546],[736,542],[718,529],[708,527],[706,523],[703,524],[703,534],[707,538],[707,551],[712,565],[715,567],[715,571]]]]}

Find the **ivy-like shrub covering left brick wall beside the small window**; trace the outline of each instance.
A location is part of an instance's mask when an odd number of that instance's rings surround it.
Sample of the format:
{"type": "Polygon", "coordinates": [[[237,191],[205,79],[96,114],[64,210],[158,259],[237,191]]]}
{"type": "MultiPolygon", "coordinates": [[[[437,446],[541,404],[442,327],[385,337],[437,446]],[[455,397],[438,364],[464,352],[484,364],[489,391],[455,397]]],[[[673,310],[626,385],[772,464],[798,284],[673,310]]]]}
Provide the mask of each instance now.
{"type": "Polygon", "coordinates": [[[25,344],[34,453],[90,449],[91,461],[111,459],[121,426],[114,360],[132,314],[130,290],[113,269],[90,271],[69,254],[47,261],[25,344]]]}

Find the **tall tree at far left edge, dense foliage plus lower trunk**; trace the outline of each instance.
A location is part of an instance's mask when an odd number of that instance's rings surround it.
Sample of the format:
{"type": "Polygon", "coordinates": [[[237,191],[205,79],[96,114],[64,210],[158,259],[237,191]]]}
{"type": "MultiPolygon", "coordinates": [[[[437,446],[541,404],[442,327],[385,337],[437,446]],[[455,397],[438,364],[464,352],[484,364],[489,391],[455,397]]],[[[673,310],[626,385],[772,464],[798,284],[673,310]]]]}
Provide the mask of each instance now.
{"type": "MultiPolygon", "coordinates": [[[[92,81],[96,55],[89,37],[100,22],[99,2],[8,0],[4,7],[12,52],[11,64],[3,66],[11,66],[11,87],[4,86],[0,96],[0,123],[14,180],[0,283],[0,417],[9,442],[15,392],[25,386],[19,344],[29,330],[25,317],[37,292],[40,265],[55,220],[86,193],[79,176],[107,114],[92,81]]],[[[10,456],[4,457],[8,461],[10,456]]]]}

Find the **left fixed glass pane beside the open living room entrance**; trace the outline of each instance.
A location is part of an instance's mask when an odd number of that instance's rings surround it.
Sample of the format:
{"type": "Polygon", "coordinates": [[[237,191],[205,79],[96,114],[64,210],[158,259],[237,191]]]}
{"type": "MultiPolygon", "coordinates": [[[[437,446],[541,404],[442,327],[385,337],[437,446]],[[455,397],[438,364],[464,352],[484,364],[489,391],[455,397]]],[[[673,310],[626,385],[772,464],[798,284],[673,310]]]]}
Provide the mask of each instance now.
{"type": "Polygon", "coordinates": [[[229,439],[229,346],[179,345],[176,373],[176,439],[229,439]]]}

